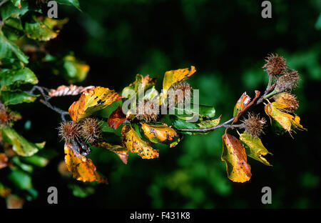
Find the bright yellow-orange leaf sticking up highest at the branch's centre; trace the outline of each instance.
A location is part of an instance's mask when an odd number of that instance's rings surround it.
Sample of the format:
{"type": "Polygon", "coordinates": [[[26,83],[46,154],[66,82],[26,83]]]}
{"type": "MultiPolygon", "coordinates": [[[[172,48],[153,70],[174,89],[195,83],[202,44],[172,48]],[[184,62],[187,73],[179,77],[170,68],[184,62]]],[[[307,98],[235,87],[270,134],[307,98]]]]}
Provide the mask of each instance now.
{"type": "Polygon", "coordinates": [[[190,66],[190,71],[188,70],[188,68],[185,68],[165,72],[165,76],[163,79],[163,94],[161,94],[161,102],[163,103],[163,101],[167,97],[167,92],[168,89],[170,89],[170,86],[177,82],[185,81],[185,79],[188,79],[188,77],[190,77],[195,72],[195,66],[190,66]]]}

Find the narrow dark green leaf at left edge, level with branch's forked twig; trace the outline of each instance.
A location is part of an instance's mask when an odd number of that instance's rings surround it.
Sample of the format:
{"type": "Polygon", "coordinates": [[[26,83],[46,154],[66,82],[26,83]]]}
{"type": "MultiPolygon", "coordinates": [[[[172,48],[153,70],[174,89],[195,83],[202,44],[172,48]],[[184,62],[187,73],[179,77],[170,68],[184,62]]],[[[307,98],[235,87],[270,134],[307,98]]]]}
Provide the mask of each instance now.
{"type": "Polygon", "coordinates": [[[12,91],[0,91],[0,99],[5,105],[8,104],[21,104],[24,102],[30,103],[36,100],[36,96],[31,96],[25,91],[12,90],[12,91]]]}

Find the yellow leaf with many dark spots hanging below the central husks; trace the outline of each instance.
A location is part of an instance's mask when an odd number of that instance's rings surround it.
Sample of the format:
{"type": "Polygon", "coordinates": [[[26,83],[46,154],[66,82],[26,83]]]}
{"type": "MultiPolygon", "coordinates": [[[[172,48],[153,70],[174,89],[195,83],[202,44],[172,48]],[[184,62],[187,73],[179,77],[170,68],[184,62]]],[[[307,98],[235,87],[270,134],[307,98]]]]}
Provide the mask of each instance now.
{"type": "Polygon", "coordinates": [[[121,129],[121,137],[124,147],[133,153],[137,153],[143,159],[158,158],[158,150],[153,149],[148,142],[141,139],[131,126],[121,129]]]}

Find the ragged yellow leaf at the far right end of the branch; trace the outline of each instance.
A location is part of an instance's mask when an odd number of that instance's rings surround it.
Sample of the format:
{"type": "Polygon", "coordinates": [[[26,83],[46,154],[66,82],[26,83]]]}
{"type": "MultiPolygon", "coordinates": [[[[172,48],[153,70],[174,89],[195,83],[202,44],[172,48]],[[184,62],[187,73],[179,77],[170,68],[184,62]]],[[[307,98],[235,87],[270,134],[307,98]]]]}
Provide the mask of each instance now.
{"type": "MultiPolygon", "coordinates": [[[[287,106],[285,104],[280,104],[277,102],[272,102],[265,105],[265,113],[270,117],[270,119],[275,119],[275,121],[280,124],[280,126],[287,130],[287,132],[291,132],[293,128],[300,130],[307,130],[302,127],[300,124],[300,117],[297,115],[293,116],[291,114],[287,114],[286,112],[281,112],[280,109],[286,109],[287,106]]],[[[272,122],[272,119],[270,120],[272,122]]]]}

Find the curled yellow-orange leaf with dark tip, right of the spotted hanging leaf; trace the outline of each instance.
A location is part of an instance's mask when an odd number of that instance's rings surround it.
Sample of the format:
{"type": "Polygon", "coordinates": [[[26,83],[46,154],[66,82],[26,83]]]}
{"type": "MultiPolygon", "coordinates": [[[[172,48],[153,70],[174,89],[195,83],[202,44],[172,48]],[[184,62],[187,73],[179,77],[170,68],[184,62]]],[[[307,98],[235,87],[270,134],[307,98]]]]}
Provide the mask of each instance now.
{"type": "Polygon", "coordinates": [[[171,142],[170,147],[175,147],[180,141],[177,132],[166,124],[151,125],[141,122],[141,126],[144,134],[151,142],[171,142]]]}

